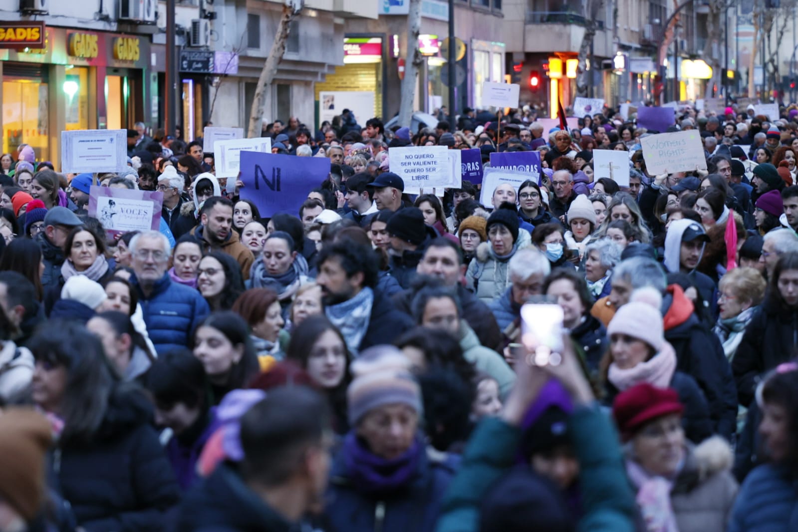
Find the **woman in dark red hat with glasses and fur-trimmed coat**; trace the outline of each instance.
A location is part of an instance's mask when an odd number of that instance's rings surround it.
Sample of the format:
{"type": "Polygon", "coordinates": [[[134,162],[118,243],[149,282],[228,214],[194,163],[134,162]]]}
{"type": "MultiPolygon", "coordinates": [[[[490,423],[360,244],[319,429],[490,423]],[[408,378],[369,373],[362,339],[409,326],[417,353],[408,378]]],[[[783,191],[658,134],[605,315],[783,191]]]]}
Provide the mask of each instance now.
{"type": "Polygon", "coordinates": [[[715,436],[694,446],[685,439],[685,413],[689,406],[673,388],[637,384],[615,399],[626,475],[646,530],[753,530],[726,528],[737,495],[729,443],[715,436]]]}

